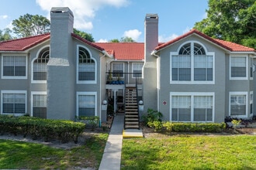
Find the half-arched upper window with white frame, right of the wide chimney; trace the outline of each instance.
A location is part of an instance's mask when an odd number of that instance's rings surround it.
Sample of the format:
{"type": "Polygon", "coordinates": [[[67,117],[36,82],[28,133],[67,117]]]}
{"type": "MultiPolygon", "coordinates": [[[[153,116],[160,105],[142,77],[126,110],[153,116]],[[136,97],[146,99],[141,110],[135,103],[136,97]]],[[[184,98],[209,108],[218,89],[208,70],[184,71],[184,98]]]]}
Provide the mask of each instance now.
{"type": "Polygon", "coordinates": [[[84,46],[78,46],[78,83],[96,83],[97,62],[92,57],[92,53],[84,46]]]}

